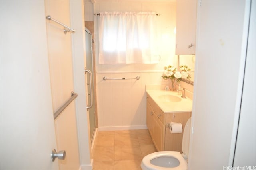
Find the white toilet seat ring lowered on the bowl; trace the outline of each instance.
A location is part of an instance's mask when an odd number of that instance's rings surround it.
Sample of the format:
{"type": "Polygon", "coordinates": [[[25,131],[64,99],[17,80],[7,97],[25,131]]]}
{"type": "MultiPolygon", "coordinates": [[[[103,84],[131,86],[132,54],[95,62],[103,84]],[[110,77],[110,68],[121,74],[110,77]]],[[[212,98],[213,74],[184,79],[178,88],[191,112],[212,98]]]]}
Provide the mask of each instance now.
{"type": "Polygon", "coordinates": [[[180,152],[160,151],[160,152],[154,152],[152,154],[148,154],[147,156],[145,156],[142,159],[141,167],[142,167],[142,169],[145,169],[145,170],[187,170],[187,162],[182,157],[180,152]],[[176,158],[180,162],[180,164],[178,166],[173,167],[173,168],[166,168],[166,167],[163,167],[163,166],[156,166],[156,165],[154,165],[150,162],[154,158],[164,157],[164,156],[170,156],[172,158],[176,158]]]}

